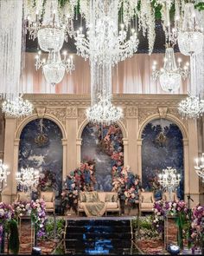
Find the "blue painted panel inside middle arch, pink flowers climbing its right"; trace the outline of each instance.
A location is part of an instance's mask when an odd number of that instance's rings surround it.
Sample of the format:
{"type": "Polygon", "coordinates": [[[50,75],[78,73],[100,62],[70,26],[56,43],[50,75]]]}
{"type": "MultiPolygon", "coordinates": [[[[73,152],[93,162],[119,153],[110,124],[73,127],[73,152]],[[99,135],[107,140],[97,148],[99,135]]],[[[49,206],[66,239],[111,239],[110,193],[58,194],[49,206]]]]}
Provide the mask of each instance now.
{"type": "Polygon", "coordinates": [[[123,135],[117,124],[99,126],[88,123],[82,133],[81,159],[94,159],[95,190],[112,191],[113,177],[124,165],[123,135]]]}

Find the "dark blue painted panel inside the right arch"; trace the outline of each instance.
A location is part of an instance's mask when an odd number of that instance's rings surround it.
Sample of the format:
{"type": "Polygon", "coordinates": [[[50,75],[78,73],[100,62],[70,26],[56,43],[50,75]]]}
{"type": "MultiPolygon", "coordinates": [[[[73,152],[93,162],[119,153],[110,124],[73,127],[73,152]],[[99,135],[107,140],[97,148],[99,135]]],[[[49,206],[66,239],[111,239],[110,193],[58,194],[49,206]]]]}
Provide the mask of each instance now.
{"type": "MultiPolygon", "coordinates": [[[[177,194],[183,199],[183,142],[180,128],[165,119],[154,120],[143,129],[142,138],[143,187],[152,189],[152,181],[157,175],[166,167],[174,167],[182,177],[177,194]]],[[[160,194],[157,197],[159,199],[160,194]]]]}

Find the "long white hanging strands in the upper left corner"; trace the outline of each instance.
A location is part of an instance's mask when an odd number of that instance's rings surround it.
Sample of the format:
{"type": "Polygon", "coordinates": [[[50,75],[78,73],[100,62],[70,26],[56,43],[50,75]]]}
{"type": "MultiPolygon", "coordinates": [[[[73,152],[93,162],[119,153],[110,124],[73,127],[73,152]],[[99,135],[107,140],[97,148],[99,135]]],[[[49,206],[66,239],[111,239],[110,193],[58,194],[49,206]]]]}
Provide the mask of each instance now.
{"type": "Polygon", "coordinates": [[[0,30],[2,62],[0,65],[0,95],[12,100],[19,95],[22,56],[22,0],[0,1],[0,30]]]}

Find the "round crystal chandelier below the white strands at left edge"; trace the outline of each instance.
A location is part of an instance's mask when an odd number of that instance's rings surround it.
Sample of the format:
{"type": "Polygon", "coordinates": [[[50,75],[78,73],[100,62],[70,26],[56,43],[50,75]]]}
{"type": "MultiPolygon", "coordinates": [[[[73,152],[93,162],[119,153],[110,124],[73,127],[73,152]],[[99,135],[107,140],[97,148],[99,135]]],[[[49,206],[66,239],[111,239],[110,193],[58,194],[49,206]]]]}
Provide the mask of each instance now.
{"type": "Polygon", "coordinates": [[[10,117],[22,117],[32,115],[33,105],[28,100],[23,100],[22,95],[15,100],[7,100],[2,104],[2,112],[10,117]]]}

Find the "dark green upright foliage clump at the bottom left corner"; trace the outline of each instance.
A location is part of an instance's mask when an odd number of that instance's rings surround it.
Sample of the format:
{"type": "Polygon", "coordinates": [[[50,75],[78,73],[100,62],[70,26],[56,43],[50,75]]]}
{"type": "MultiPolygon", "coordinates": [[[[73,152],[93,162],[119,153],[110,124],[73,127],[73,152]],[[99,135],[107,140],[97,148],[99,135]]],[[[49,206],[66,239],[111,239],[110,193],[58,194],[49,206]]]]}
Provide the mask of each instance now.
{"type": "Polygon", "coordinates": [[[18,254],[20,241],[18,236],[18,226],[17,226],[16,220],[10,220],[9,230],[10,230],[10,240],[9,240],[10,252],[13,254],[18,254]]]}

